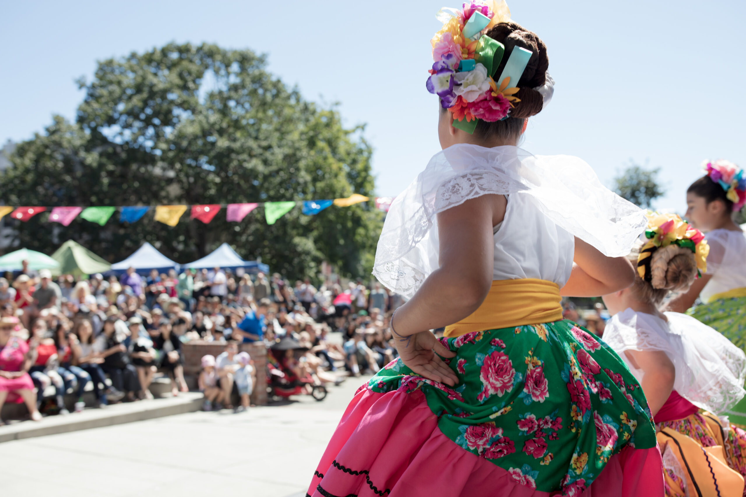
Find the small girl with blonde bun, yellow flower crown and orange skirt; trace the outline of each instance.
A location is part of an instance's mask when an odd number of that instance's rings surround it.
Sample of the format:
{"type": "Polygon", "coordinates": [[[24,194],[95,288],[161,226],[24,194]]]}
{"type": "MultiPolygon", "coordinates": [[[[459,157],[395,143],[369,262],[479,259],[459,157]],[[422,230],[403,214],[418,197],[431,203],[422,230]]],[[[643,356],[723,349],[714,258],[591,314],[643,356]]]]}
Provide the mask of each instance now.
{"type": "Polygon", "coordinates": [[[648,241],[630,254],[635,283],[604,296],[613,314],[604,341],[642,384],[659,422],[666,495],[741,497],[746,433],[712,413],[746,393],[746,355],[693,317],[658,310],[669,292],[686,291],[705,272],[707,242],[677,215],[648,219],[648,241]]]}

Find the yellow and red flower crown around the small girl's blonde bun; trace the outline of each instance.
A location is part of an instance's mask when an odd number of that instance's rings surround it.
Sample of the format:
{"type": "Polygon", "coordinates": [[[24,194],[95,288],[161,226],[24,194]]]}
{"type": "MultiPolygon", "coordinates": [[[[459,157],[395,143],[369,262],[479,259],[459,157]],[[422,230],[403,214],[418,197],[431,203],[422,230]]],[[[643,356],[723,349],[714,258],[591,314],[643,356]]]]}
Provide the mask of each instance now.
{"type": "Polygon", "coordinates": [[[699,229],[683,221],[677,214],[659,214],[648,211],[648,241],[637,258],[637,273],[653,288],[665,288],[665,271],[670,261],[683,250],[691,250],[697,263],[697,276],[707,270],[709,245],[699,229]],[[665,253],[659,253],[659,251],[665,253]],[[653,258],[653,254],[656,254],[653,258]],[[656,259],[656,260],[653,260],[656,259]]]}

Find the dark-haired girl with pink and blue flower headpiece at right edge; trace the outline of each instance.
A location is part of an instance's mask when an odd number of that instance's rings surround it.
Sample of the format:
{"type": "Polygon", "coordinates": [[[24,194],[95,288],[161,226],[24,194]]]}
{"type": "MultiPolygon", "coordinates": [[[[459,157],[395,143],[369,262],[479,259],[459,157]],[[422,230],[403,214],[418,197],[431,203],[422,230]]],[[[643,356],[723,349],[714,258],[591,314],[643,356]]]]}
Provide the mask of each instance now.
{"type": "Polygon", "coordinates": [[[746,350],[746,233],[733,222],[746,202],[746,176],[727,160],[706,161],[704,168],[707,174],[686,191],[686,218],[706,232],[707,272],[670,308],[685,312],[699,297],[702,304],[689,315],[746,350]]]}

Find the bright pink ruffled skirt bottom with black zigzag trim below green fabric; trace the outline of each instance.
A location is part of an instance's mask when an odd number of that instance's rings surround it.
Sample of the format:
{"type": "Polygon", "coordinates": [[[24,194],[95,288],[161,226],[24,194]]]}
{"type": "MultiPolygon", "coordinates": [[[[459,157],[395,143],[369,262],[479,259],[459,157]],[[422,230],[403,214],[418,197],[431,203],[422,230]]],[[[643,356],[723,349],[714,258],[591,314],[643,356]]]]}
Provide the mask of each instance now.
{"type": "MultiPolygon", "coordinates": [[[[626,446],[580,493],[583,497],[661,496],[657,447],[626,446]]],[[[316,468],[313,497],[545,497],[515,474],[468,452],[438,428],[424,394],[361,389],[316,468]]]]}

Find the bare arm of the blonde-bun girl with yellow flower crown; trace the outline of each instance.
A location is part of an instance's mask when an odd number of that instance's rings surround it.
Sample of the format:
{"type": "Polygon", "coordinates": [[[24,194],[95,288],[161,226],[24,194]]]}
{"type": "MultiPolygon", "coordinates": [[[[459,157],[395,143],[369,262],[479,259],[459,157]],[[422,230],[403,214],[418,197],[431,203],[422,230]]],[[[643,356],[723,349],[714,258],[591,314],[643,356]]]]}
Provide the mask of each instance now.
{"type": "Polygon", "coordinates": [[[627,355],[634,367],[645,371],[640,386],[645,393],[645,399],[648,399],[651,414],[655,416],[674,390],[674,363],[660,350],[626,350],[624,355],[627,355]]]}

